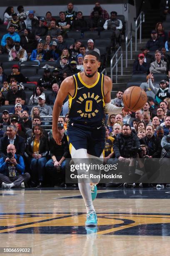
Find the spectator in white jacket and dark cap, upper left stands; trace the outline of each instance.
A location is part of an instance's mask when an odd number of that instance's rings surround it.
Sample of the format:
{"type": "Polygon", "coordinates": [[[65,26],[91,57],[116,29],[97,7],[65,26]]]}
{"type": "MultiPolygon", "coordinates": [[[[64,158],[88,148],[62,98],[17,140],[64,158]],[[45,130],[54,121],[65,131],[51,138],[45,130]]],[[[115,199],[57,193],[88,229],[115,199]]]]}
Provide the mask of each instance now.
{"type": "Polygon", "coordinates": [[[16,41],[14,47],[9,52],[9,61],[27,61],[28,56],[25,49],[20,46],[20,42],[16,41]]]}

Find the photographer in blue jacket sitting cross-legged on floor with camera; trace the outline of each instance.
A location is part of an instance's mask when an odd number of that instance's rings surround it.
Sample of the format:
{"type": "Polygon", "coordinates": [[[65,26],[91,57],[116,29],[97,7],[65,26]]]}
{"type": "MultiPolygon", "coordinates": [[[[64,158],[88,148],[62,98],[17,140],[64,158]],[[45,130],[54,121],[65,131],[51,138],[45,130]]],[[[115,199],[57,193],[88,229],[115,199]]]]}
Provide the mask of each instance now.
{"type": "Polygon", "coordinates": [[[2,188],[25,187],[24,182],[30,179],[30,174],[25,173],[23,157],[15,154],[13,144],[7,146],[7,157],[0,158],[0,183],[2,188]]]}

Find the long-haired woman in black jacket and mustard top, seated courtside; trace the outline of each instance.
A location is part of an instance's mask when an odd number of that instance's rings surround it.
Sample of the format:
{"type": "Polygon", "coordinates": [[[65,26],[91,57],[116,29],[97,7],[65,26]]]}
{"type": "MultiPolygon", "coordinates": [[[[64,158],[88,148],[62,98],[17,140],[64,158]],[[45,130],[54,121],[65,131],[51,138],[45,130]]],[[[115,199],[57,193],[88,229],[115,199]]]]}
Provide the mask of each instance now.
{"type": "Polygon", "coordinates": [[[42,187],[44,168],[49,151],[48,140],[43,135],[42,127],[35,125],[32,128],[32,137],[27,139],[25,152],[30,157],[30,171],[32,185],[42,187]]]}

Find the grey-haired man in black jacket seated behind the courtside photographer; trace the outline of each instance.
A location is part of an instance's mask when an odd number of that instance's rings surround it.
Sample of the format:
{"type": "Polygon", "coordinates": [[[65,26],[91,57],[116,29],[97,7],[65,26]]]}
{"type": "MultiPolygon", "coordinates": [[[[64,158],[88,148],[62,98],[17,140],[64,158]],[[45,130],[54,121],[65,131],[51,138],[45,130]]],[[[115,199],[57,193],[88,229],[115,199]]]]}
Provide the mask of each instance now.
{"type": "Polygon", "coordinates": [[[16,148],[16,154],[23,156],[25,152],[24,139],[17,134],[17,128],[14,125],[7,126],[7,136],[0,138],[0,157],[7,155],[7,146],[13,144],[16,148]]]}

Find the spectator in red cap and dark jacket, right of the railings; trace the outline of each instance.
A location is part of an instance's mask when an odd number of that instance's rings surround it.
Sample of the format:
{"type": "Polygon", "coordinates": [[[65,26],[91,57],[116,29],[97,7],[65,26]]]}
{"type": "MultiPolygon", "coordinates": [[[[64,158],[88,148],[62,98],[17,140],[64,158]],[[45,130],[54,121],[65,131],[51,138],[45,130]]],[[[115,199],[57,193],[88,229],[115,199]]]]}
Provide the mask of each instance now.
{"type": "Polygon", "coordinates": [[[133,63],[133,74],[147,74],[149,72],[149,64],[144,59],[144,54],[138,54],[138,60],[133,63]]]}

